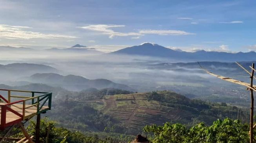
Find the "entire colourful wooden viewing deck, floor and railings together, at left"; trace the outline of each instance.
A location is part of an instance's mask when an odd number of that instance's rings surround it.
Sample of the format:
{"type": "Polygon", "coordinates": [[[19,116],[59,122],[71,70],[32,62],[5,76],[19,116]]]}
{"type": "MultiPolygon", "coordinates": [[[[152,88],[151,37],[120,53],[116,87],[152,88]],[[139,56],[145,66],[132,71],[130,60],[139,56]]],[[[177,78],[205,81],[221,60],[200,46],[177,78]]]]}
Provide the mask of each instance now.
{"type": "Polygon", "coordinates": [[[0,94],[3,101],[0,103],[0,129],[5,129],[51,110],[52,93],[9,89],[0,89],[0,92],[2,94],[5,92],[8,97],[7,100],[0,94]]]}

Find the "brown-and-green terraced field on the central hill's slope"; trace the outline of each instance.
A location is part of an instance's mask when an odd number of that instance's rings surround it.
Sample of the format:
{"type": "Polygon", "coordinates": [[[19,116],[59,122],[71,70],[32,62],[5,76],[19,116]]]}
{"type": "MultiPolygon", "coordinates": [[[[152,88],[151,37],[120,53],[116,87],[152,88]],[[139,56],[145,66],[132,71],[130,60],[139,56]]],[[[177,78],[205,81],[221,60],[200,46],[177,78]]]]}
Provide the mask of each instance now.
{"type": "Polygon", "coordinates": [[[149,100],[149,94],[135,93],[105,96],[102,100],[95,101],[93,106],[98,107],[95,104],[103,104],[100,111],[111,115],[119,127],[129,130],[138,130],[144,125],[153,123],[161,125],[165,122],[191,120],[192,113],[189,111],[179,109],[178,107],[167,107],[161,105],[159,101],[149,100]]]}

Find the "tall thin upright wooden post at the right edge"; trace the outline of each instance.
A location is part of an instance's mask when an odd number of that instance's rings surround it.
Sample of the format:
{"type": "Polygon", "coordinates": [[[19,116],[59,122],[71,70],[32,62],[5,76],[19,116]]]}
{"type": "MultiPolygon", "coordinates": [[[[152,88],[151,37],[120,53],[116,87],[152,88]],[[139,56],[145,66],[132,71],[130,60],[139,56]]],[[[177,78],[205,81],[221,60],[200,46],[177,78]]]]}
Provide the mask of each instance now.
{"type": "MultiPolygon", "coordinates": [[[[254,63],[252,64],[252,68],[254,68],[254,63]]],[[[251,73],[251,88],[253,87],[253,76],[254,70],[251,73]]],[[[250,114],[250,143],[253,143],[253,109],[254,109],[254,97],[253,97],[253,90],[251,90],[251,114],[250,114]]]]}

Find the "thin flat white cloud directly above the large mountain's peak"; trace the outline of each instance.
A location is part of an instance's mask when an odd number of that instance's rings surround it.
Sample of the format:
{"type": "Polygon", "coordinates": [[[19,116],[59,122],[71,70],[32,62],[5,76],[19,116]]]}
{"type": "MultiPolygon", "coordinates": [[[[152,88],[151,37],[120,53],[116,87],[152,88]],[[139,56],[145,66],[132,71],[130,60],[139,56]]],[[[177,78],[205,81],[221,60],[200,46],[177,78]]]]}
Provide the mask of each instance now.
{"type": "Polygon", "coordinates": [[[191,35],[194,33],[189,33],[180,30],[140,30],[142,34],[158,34],[158,35],[191,35]]]}

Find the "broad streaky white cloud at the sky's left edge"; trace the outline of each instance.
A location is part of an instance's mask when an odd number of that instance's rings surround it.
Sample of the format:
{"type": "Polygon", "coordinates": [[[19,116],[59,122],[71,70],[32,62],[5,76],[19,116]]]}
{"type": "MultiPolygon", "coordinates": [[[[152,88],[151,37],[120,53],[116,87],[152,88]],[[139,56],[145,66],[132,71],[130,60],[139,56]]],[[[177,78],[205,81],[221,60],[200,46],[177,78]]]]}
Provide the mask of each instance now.
{"type": "Polygon", "coordinates": [[[59,34],[44,34],[40,32],[32,32],[27,29],[31,27],[24,26],[11,26],[11,25],[0,25],[0,37],[6,39],[32,39],[32,38],[43,38],[43,39],[63,39],[63,38],[76,38],[74,36],[66,36],[59,34]]]}

